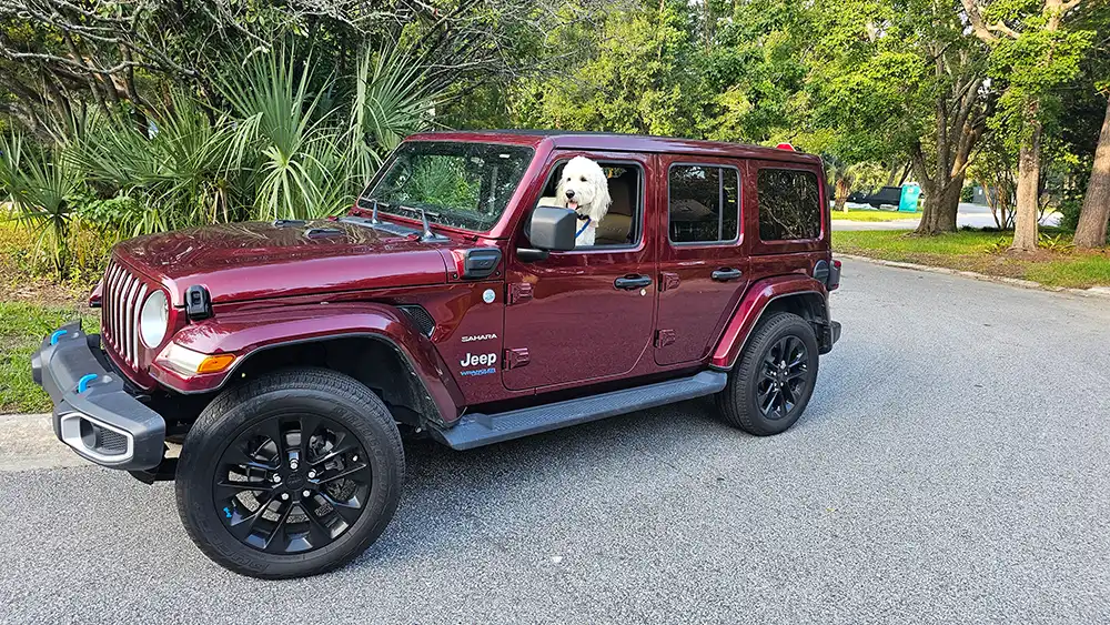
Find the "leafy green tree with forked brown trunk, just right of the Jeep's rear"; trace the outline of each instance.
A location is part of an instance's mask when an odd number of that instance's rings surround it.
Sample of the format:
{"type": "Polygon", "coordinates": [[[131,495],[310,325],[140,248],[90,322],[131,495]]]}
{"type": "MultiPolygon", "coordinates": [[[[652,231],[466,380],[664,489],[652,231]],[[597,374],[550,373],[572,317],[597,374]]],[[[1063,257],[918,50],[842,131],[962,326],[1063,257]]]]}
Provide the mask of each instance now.
{"type": "Polygon", "coordinates": [[[967,168],[995,100],[986,51],[965,34],[957,7],[849,0],[824,7],[815,29],[814,123],[835,129],[841,150],[887,162],[908,155],[925,195],[919,234],[956,229],[967,168]]]}

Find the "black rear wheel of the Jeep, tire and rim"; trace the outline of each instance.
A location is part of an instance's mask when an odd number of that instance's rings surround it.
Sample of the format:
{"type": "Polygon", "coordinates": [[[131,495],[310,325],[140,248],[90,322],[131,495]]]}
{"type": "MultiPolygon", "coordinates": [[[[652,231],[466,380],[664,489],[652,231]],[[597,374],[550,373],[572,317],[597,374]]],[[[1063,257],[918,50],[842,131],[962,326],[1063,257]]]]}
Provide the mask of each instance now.
{"type": "Polygon", "coordinates": [[[786,432],[794,425],[814,393],[817,381],[817,337],[814,329],[804,319],[786,312],[770,313],[759,321],[740,354],[737,365],[728,375],[728,383],[717,394],[717,409],[722,417],[734,427],[756,435],[771,436],[786,432]],[[784,346],[800,346],[805,353],[784,346]],[[783,356],[790,351],[789,359],[783,356]],[[781,377],[765,376],[764,363],[774,360],[787,363],[787,373],[781,377]],[[797,361],[797,364],[794,364],[797,361]],[[791,374],[795,375],[790,379],[791,374]],[[776,382],[783,390],[775,390],[776,382]],[[778,401],[776,401],[776,394],[778,401]],[[765,403],[770,400],[771,411],[765,412],[765,403]],[[788,400],[793,399],[793,402],[788,400]]]}

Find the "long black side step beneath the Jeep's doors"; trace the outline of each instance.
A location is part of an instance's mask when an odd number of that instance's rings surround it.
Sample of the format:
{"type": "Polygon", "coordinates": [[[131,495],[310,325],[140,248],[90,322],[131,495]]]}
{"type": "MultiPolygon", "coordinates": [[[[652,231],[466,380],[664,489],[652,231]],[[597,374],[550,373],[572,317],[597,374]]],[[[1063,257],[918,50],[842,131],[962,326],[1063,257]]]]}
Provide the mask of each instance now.
{"type": "Polygon", "coordinates": [[[498,414],[467,414],[450,430],[433,430],[433,435],[455,450],[471,450],[625,414],[638,410],[712,395],[725,387],[728,374],[703,371],[692,377],[668,380],[647,386],[625,389],[579,400],[567,400],[498,414]]]}

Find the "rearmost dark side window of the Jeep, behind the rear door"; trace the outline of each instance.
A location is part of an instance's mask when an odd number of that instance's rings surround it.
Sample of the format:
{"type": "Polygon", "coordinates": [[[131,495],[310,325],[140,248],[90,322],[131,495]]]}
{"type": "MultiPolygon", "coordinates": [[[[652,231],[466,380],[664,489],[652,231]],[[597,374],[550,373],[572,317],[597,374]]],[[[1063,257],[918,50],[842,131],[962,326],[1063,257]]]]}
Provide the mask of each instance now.
{"type": "Polygon", "coordinates": [[[821,235],[821,208],[817,177],[809,171],[761,169],[759,239],[795,241],[821,235]]]}

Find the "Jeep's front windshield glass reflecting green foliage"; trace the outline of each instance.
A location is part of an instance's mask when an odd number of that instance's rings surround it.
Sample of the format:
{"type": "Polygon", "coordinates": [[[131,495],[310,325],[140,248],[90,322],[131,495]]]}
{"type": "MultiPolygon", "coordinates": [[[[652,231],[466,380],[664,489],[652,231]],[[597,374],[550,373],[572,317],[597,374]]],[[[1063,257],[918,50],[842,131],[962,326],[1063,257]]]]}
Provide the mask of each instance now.
{"type": "Polygon", "coordinates": [[[484,232],[505,212],[508,199],[532,162],[532,148],[414,141],[386,163],[377,184],[363,194],[382,212],[484,232]]]}

